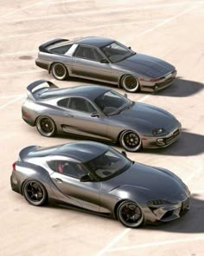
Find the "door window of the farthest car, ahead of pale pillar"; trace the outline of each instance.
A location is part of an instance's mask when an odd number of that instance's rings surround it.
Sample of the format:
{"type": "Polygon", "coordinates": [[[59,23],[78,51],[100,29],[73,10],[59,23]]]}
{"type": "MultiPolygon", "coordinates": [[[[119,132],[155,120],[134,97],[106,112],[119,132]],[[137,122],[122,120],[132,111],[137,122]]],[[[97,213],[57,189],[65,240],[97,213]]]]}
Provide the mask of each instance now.
{"type": "Polygon", "coordinates": [[[100,62],[102,59],[104,59],[97,49],[82,45],[78,47],[74,56],[94,62],[100,62]]]}

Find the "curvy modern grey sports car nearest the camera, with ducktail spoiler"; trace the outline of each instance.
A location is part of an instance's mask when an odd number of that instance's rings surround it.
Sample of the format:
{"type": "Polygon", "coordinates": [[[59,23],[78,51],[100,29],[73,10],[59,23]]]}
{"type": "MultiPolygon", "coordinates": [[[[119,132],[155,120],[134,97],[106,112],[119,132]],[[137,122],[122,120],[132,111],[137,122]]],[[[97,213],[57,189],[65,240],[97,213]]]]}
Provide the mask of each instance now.
{"type": "Polygon", "coordinates": [[[10,182],[34,206],[61,202],[128,227],[175,220],[189,208],[188,187],[175,174],[131,161],[99,142],[23,148],[10,182]]]}

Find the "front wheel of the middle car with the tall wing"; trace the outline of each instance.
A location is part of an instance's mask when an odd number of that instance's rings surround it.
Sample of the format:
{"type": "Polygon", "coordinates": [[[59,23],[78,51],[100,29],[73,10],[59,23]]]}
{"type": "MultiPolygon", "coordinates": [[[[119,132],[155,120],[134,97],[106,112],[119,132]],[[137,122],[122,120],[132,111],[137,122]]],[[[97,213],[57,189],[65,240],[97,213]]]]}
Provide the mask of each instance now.
{"type": "Polygon", "coordinates": [[[127,151],[136,152],[142,148],[142,141],[136,132],[124,131],[119,138],[120,145],[127,151]]]}

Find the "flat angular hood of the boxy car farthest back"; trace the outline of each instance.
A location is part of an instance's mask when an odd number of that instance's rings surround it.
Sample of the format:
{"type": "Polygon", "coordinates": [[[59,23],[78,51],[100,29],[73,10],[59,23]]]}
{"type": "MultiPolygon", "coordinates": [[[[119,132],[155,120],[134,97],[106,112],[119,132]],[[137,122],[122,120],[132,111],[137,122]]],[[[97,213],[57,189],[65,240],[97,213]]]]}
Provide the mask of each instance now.
{"type": "Polygon", "coordinates": [[[143,75],[150,78],[161,77],[175,70],[175,67],[168,62],[138,53],[121,62],[117,62],[116,65],[119,68],[136,72],[137,75],[143,75]]]}

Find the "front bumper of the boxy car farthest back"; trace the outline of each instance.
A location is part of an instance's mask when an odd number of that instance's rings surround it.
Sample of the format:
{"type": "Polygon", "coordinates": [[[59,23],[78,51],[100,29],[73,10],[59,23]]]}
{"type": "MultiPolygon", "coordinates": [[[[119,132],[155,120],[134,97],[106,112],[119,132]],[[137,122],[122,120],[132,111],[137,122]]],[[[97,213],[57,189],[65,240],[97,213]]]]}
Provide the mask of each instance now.
{"type": "Polygon", "coordinates": [[[170,72],[169,74],[161,77],[159,81],[156,82],[140,82],[140,87],[142,91],[158,91],[164,88],[169,87],[174,81],[175,81],[175,76],[177,75],[177,71],[174,70],[173,72],[170,72]]]}

